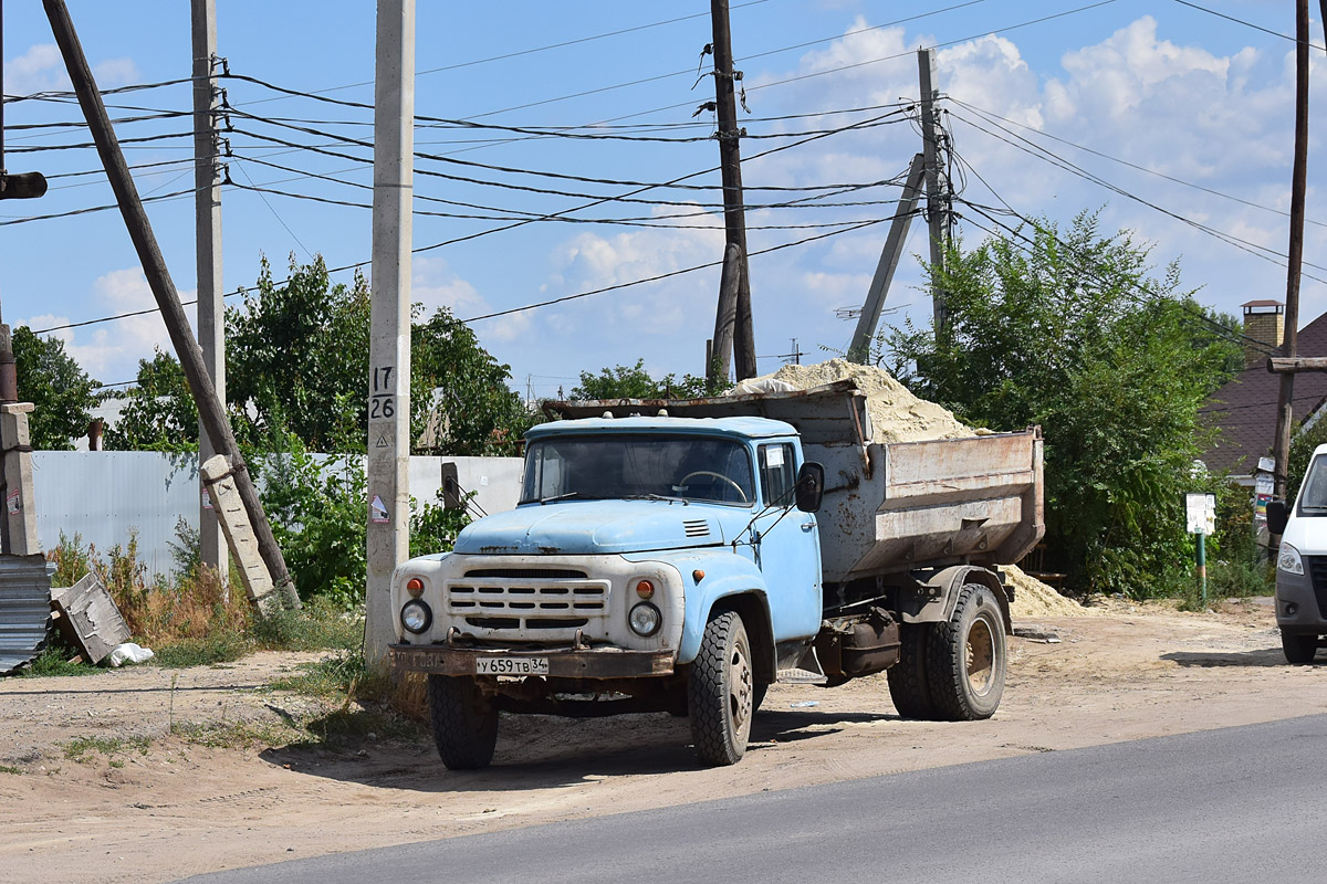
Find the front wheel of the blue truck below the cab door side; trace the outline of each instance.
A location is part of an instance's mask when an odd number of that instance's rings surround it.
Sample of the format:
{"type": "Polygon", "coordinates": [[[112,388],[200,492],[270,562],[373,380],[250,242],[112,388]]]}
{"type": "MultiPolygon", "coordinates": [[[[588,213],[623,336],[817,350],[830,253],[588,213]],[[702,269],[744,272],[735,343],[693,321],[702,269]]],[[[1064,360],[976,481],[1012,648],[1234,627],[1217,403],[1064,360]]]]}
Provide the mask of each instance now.
{"type": "Polygon", "coordinates": [[[735,611],[710,615],[686,685],[695,753],[707,765],[735,765],[746,754],[755,712],[751,641],[735,611]]]}

